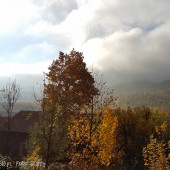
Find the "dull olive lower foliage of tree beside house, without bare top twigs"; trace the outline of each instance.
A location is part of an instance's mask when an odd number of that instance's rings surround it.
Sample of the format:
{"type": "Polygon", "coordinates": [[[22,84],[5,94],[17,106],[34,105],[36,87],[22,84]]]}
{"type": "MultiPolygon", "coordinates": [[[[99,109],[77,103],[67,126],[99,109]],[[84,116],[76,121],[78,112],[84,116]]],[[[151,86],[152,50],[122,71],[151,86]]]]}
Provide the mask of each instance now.
{"type": "Polygon", "coordinates": [[[27,141],[27,157],[31,157],[35,146],[39,146],[39,158],[46,163],[46,168],[50,162],[56,161],[58,157],[61,159],[64,145],[62,142],[66,140],[62,139],[60,116],[58,115],[60,110],[58,109],[56,108],[54,111],[46,106],[44,112],[40,113],[39,121],[31,127],[27,141]]]}

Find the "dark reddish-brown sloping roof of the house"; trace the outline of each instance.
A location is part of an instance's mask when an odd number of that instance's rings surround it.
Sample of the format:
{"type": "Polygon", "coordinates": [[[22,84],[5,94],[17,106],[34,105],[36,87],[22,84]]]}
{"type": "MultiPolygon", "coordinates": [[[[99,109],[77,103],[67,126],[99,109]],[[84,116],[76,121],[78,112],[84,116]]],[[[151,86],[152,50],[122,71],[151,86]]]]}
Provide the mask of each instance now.
{"type": "MultiPolygon", "coordinates": [[[[11,131],[28,132],[39,119],[40,111],[22,110],[11,118],[11,131]]],[[[0,130],[7,131],[7,117],[0,117],[0,130]]]]}

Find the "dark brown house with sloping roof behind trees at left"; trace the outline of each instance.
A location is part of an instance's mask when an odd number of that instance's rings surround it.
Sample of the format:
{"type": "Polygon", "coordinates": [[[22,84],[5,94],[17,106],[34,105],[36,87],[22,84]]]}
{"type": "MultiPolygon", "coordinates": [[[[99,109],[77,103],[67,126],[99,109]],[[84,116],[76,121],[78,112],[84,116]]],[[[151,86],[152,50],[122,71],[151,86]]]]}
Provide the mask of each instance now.
{"type": "MultiPolygon", "coordinates": [[[[39,119],[40,111],[20,111],[11,118],[11,130],[8,140],[8,154],[12,159],[20,160],[26,156],[25,144],[29,128],[39,119]]],[[[0,117],[0,154],[6,154],[7,117],[0,117]]]]}

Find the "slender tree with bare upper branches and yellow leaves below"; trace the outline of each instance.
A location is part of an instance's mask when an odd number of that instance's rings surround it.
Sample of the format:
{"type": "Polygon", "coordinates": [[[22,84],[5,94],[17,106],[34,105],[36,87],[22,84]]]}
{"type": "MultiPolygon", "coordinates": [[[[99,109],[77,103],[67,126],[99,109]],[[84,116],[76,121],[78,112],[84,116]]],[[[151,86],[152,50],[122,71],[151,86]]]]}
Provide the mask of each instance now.
{"type": "Polygon", "coordinates": [[[105,107],[113,109],[116,106],[117,98],[114,97],[113,90],[107,87],[104,76],[99,71],[92,69],[92,75],[95,80],[94,86],[99,93],[92,97],[91,103],[83,107],[78,116],[73,116],[70,119],[71,149],[69,155],[75,164],[81,164],[83,159],[88,158],[89,160],[84,161],[82,164],[84,166],[87,164],[88,167],[91,164],[94,168],[100,162],[98,156],[95,155],[98,152],[98,146],[94,146],[94,139],[97,137],[99,127],[103,122],[103,116],[105,115],[103,109],[105,107]]]}

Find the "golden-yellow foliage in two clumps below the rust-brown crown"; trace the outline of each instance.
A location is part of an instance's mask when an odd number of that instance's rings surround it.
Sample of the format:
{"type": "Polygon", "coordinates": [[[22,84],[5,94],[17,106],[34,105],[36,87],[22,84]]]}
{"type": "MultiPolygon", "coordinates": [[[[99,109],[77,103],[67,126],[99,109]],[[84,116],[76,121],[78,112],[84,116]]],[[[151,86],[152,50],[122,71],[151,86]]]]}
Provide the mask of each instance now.
{"type": "Polygon", "coordinates": [[[116,131],[118,119],[113,114],[113,109],[103,108],[102,120],[97,126],[93,136],[89,136],[90,124],[85,115],[81,112],[81,119],[73,119],[69,126],[69,136],[71,138],[71,150],[69,155],[72,159],[73,167],[78,169],[99,169],[101,166],[109,167],[114,160],[117,167],[120,152],[117,148],[116,131]]]}

